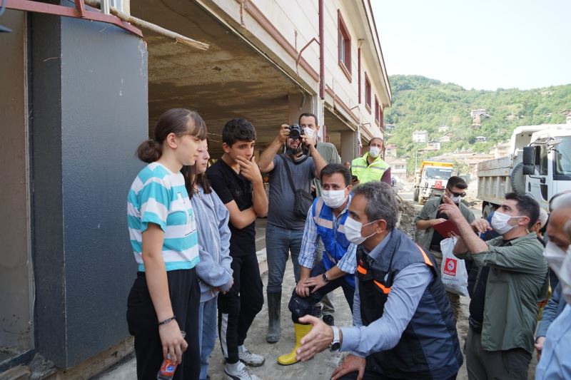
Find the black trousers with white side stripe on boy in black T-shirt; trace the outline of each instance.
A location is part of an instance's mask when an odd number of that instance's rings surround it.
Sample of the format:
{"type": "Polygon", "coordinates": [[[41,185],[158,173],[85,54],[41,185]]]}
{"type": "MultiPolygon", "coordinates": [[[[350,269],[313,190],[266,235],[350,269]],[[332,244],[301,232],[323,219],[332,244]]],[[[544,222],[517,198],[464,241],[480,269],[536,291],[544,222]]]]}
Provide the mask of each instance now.
{"type": "Polygon", "coordinates": [[[238,346],[263,307],[262,279],[256,255],[233,257],[234,284],[218,294],[218,336],[226,363],[238,362],[238,346]]]}

